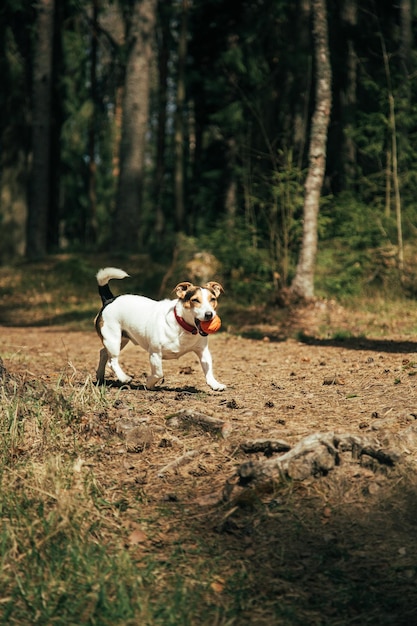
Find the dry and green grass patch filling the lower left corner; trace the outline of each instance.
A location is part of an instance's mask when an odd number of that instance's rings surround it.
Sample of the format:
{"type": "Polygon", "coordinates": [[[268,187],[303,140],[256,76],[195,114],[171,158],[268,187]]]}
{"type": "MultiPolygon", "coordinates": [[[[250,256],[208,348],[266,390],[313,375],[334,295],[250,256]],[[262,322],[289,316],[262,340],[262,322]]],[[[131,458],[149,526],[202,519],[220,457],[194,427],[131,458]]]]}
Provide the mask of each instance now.
{"type": "Polygon", "coordinates": [[[203,540],[174,541],[163,556],[129,544],[126,515],[152,540],[182,513],[141,513],[140,490],[125,492],[106,468],[119,441],[97,450],[83,436],[85,416],[106,408],[103,389],[11,381],[1,395],[0,624],[226,623],[210,586],[221,568],[203,540]]]}

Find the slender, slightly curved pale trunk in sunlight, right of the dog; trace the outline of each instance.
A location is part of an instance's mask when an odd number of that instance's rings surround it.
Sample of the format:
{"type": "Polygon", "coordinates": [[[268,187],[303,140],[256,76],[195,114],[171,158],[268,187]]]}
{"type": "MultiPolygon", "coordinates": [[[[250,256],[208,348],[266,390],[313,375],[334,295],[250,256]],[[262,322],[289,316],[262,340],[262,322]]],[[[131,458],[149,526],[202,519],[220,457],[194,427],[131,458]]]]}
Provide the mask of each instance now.
{"type": "Polygon", "coordinates": [[[331,111],[331,67],[325,0],[313,0],[313,34],[316,62],[316,103],[312,119],[309,167],[305,183],[303,240],[296,274],[291,285],[294,295],[314,296],[317,255],[317,220],[320,193],[326,169],[327,131],[331,111]]]}

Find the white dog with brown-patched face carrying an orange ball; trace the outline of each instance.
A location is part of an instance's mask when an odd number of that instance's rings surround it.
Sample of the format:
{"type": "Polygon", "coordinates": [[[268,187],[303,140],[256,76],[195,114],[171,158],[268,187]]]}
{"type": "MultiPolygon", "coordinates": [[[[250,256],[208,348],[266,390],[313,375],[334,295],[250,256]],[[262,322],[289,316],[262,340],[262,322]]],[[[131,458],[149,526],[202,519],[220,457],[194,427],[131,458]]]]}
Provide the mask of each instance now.
{"type": "Polygon", "coordinates": [[[208,386],[214,391],[223,391],[226,385],[214,377],[208,337],[200,327],[201,322],[210,321],[216,315],[217,299],[223,292],[220,283],[208,282],[204,287],[196,287],[190,282],[179,283],[173,290],[177,296],[175,300],[158,301],[132,294],[113,296],[109,281],[128,276],[124,270],[115,267],[106,267],[96,274],[103,305],[95,319],[103,343],[97,383],[104,383],[106,365],[121,383],[132,380],[119,364],[121,350],[131,341],[149,353],[148,389],[163,381],[163,359],[178,359],[187,352],[194,352],[208,386]]]}

